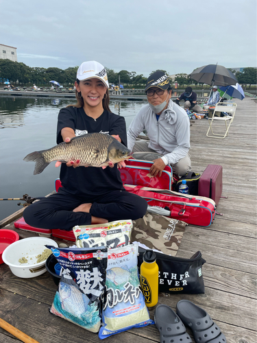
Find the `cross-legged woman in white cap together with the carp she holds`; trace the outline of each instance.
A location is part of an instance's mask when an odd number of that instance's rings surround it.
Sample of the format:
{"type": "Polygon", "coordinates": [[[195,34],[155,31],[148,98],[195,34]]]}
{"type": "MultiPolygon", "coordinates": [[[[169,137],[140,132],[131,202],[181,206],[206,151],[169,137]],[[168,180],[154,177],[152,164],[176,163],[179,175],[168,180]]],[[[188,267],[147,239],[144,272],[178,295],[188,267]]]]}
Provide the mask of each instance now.
{"type": "Polygon", "coordinates": [[[60,110],[56,147],[27,155],[39,174],[51,161],[61,165],[58,193],[28,206],[27,224],[72,230],[143,217],[147,202],[123,188],[118,167],[130,157],[124,117],[109,108],[106,69],[98,62],[81,64],[75,82],[77,104],[60,110]]]}

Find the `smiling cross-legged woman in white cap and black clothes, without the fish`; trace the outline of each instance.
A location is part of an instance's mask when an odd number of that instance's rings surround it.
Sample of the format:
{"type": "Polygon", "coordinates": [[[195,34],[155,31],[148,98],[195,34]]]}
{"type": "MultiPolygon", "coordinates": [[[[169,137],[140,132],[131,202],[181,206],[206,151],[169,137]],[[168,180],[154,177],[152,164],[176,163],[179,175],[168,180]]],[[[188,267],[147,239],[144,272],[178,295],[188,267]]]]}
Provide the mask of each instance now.
{"type": "MultiPolygon", "coordinates": [[[[88,61],[77,69],[77,103],[62,108],[58,115],[57,143],[93,132],[110,134],[127,145],[125,119],[110,111],[106,69],[88,61]]],[[[136,220],[147,211],[147,202],[125,191],[118,167],[83,167],[80,161],[57,162],[62,187],[58,193],[27,206],[25,222],[38,228],[72,230],[75,225],[103,224],[114,220],[136,220]]]]}

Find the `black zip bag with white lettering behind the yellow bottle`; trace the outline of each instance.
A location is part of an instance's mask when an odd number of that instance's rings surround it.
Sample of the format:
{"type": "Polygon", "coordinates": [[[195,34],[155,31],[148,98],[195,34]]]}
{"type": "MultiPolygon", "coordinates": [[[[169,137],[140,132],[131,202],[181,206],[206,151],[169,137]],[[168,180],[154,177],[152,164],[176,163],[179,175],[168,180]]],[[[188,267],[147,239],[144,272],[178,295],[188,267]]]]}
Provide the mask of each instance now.
{"type": "MultiPolygon", "coordinates": [[[[143,263],[145,249],[139,247],[138,268],[143,263]]],[[[204,293],[202,265],[206,260],[197,251],[190,259],[182,259],[156,252],[159,267],[159,293],[204,293]]]]}

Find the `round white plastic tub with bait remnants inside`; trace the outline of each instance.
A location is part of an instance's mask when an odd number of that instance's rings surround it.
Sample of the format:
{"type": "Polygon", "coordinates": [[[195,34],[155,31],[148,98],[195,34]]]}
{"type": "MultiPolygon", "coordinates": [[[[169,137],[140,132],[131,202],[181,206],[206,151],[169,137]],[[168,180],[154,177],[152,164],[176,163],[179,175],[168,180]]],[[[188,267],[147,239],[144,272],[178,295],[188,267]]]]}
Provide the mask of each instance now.
{"type": "Polygon", "coordinates": [[[37,256],[46,249],[45,245],[55,246],[58,244],[47,237],[29,237],[16,241],[8,246],[3,252],[3,262],[9,265],[10,270],[20,278],[33,278],[47,271],[45,261],[36,263],[37,256]],[[27,263],[20,263],[19,259],[25,257],[27,263]]]}

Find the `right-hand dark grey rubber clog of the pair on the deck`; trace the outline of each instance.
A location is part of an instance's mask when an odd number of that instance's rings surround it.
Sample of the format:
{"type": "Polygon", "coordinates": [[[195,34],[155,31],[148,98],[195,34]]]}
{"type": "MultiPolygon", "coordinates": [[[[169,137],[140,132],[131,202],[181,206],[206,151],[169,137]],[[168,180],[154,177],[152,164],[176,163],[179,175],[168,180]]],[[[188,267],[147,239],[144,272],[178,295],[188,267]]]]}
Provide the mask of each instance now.
{"type": "Polygon", "coordinates": [[[221,329],[213,322],[209,314],[189,300],[180,300],[177,304],[177,314],[182,322],[193,331],[195,342],[226,343],[221,329]]]}

